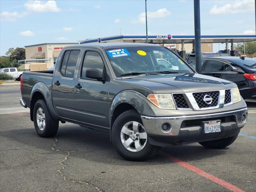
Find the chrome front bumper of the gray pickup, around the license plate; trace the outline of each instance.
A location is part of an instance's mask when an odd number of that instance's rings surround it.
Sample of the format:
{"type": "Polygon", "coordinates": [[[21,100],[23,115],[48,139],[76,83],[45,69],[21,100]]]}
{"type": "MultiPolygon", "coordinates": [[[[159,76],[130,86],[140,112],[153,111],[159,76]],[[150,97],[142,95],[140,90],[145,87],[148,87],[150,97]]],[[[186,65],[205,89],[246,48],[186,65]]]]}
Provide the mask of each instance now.
{"type": "MultiPolygon", "coordinates": [[[[247,121],[247,108],[242,108],[239,110],[232,110],[220,113],[212,114],[200,114],[200,115],[184,115],[184,116],[169,116],[169,117],[150,117],[141,116],[145,131],[147,134],[160,135],[160,136],[177,136],[180,132],[181,124],[184,120],[197,120],[201,122],[206,118],[220,118],[223,116],[232,116],[236,118],[236,122],[223,122],[223,126],[231,126],[231,124],[236,124],[235,128],[241,128],[246,124],[247,121]],[[242,121],[242,116],[246,116],[246,120],[242,121]],[[163,123],[169,123],[171,125],[170,132],[166,133],[161,130],[163,123]]],[[[233,127],[234,128],[234,127],[233,127]]],[[[199,130],[202,129],[201,126],[189,126],[182,128],[182,130],[199,130]]],[[[230,128],[231,129],[231,128],[230,128]]]]}

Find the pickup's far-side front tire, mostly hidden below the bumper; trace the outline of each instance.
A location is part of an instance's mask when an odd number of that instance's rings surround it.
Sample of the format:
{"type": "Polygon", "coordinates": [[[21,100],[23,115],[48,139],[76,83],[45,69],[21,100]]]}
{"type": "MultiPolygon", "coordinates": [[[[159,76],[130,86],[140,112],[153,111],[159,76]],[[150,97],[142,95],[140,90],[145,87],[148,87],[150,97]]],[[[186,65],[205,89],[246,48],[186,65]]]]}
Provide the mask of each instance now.
{"type": "Polygon", "coordinates": [[[209,149],[222,149],[231,145],[236,140],[237,136],[238,134],[224,139],[199,142],[199,144],[209,149]]]}

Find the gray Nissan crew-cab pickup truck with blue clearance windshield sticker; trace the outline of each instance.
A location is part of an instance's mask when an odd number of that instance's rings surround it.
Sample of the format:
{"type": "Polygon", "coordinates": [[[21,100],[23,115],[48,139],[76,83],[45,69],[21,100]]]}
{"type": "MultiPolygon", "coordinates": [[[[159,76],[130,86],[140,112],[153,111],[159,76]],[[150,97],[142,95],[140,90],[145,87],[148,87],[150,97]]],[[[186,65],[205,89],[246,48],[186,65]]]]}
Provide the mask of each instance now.
{"type": "Polygon", "coordinates": [[[102,130],[127,160],[167,145],[225,148],[247,120],[236,84],[200,75],[153,44],[68,46],[54,71],[24,72],[20,88],[39,136],[55,136],[59,122],[102,130]]]}

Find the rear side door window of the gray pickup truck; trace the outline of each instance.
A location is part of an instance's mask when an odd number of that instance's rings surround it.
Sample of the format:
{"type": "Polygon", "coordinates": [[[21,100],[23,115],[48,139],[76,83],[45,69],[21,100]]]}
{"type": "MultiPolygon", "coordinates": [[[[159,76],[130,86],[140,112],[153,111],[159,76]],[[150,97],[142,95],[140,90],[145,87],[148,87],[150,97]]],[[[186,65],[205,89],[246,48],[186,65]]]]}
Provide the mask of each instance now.
{"type": "Polygon", "coordinates": [[[74,77],[76,62],[78,60],[80,50],[66,51],[62,60],[61,73],[66,77],[74,77]]]}

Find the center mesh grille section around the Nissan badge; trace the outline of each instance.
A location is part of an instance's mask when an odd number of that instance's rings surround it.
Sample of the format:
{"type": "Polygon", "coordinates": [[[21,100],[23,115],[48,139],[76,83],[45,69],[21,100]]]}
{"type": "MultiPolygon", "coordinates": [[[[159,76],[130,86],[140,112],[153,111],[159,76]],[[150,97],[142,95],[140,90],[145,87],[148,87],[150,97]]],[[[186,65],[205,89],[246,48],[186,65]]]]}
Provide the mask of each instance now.
{"type": "Polygon", "coordinates": [[[199,108],[207,108],[207,107],[215,107],[218,105],[218,100],[219,100],[219,91],[210,91],[210,92],[199,92],[199,93],[193,93],[193,96],[198,104],[199,108]],[[204,102],[204,96],[208,95],[212,98],[212,103],[207,104],[204,102]]]}

